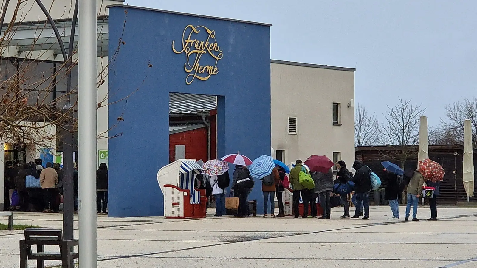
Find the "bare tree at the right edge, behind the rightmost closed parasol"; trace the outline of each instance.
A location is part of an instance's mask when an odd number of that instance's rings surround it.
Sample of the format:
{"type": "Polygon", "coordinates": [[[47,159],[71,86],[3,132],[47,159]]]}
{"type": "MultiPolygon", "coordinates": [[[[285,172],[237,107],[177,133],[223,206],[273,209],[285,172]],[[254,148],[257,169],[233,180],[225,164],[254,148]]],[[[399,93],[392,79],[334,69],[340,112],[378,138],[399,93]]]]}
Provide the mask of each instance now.
{"type": "Polygon", "coordinates": [[[446,136],[462,144],[464,142],[464,121],[470,119],[472,125],[472,141],[477,146],[477,97],[464,98],[461,101],[447,104],[445,119],[441,119],[441,128],[446,136]]]}

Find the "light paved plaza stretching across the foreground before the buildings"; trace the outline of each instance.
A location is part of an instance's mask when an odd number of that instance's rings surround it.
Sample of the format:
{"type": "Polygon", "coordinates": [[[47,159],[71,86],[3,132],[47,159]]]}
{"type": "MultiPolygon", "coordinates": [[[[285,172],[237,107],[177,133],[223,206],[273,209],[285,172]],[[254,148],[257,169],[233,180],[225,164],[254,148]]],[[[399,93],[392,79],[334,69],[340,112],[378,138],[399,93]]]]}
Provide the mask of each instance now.
{"type": "MultiPolygon", "coordinates": [[[[435,222],[425,220],[428,207],[419,208],[419,222],[390,221],[387,206],[372,207],[370,220],[338,219],[340,208],[331,220],[98,216],[98,268],[477,267],[477,209],[438,213],[435,222]]],[[[61,218],[16,213],[14,223],[62,227],[61,218]]],[[[22,231],[0,231],[0,268],[19,267],[21,238],[22,231]]]]}

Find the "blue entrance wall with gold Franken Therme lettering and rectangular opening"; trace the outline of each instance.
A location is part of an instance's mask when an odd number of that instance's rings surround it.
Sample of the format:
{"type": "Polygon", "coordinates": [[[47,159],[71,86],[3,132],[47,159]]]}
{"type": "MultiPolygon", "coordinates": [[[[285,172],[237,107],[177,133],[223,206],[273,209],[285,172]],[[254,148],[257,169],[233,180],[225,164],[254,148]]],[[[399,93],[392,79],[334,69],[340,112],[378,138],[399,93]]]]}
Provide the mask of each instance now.
{"type": "MultiPolygon", "coordinates": [[[[219,157],[270,154],[270,26],[109,8],[109,126],[120,134],[108,145],[109,216],[163,215],[156,174],[169,159],[171,92],[218,96],[219,157]]],[[[261,196],[258,182],[258,213],[261,196]]]]}

